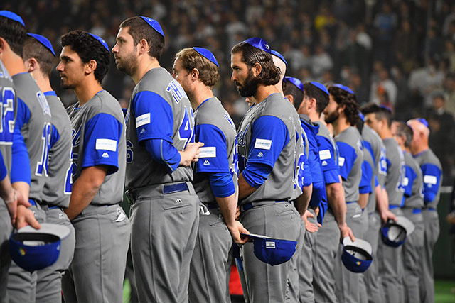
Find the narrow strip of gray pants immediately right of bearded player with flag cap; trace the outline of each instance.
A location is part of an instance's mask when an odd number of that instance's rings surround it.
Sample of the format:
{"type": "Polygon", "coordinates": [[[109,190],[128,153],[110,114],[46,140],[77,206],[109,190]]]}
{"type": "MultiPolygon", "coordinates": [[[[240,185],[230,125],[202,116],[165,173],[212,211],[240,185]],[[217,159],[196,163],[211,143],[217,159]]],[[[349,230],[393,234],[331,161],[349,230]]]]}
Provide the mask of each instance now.
{"type": "MultiPolygon", "coordinates": [[[[313,209],[308,209],[313,218],[308,218],[308,221],[313,224],[318,224],[318,218],[313,209]]],[[[299,265],[299,302],[310,303],[314,302],[313,293],[313,259],[316,253],[316,237],[318,232],[310,233],[305,231],[304,245],[301,248],[300,265],[299,265]]]]}

